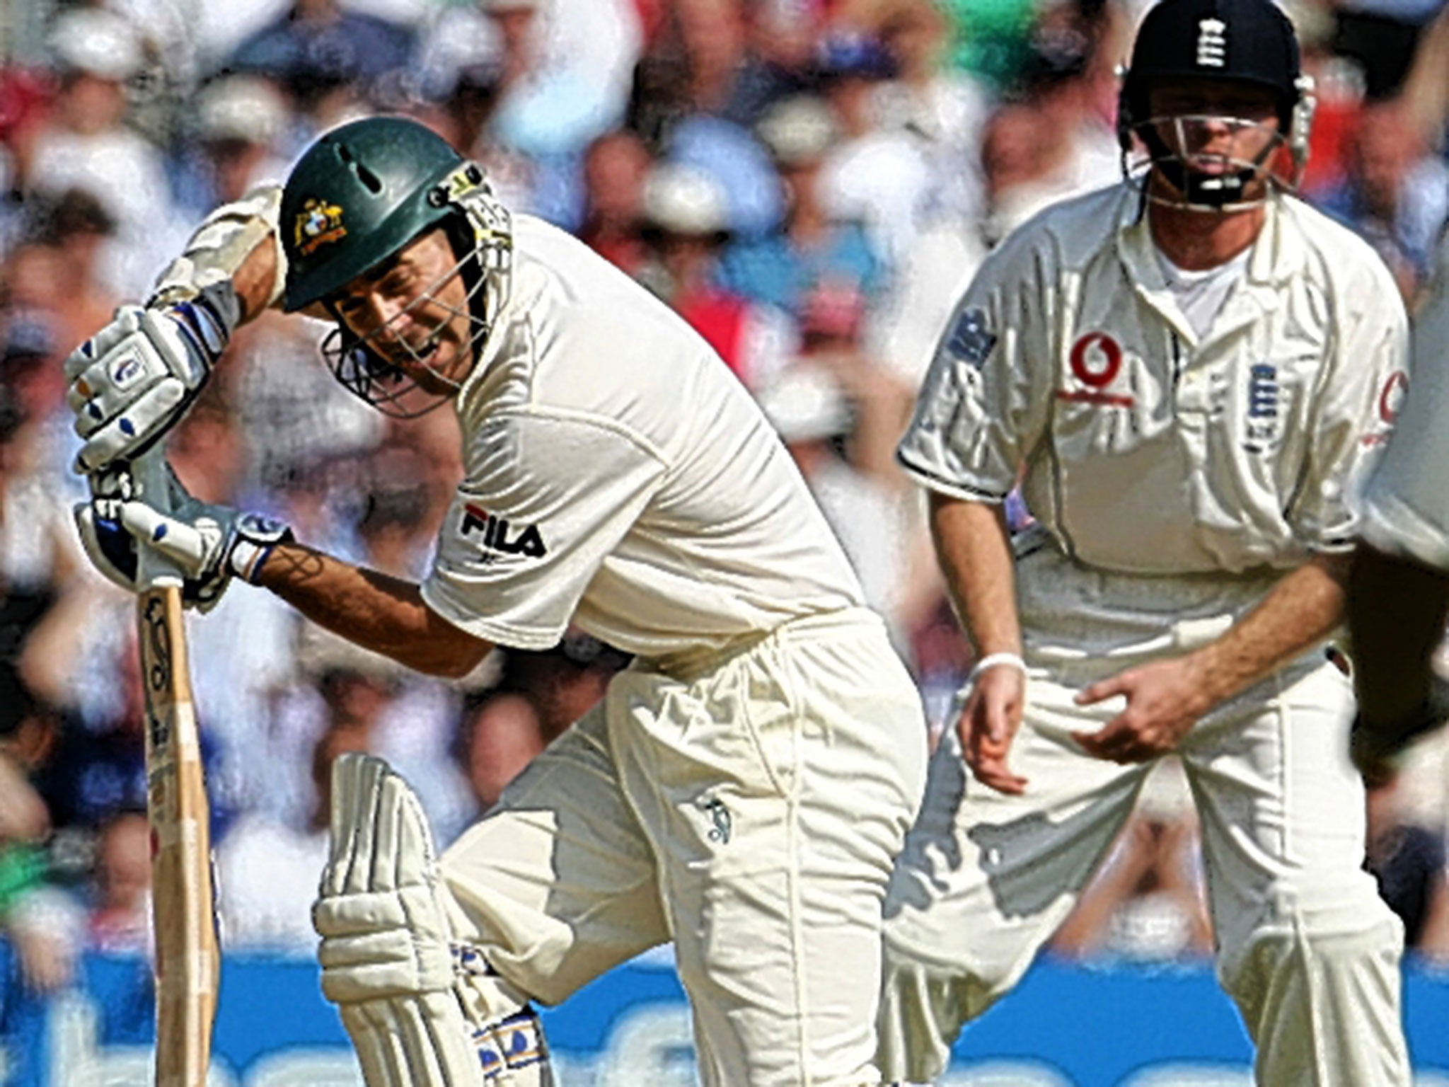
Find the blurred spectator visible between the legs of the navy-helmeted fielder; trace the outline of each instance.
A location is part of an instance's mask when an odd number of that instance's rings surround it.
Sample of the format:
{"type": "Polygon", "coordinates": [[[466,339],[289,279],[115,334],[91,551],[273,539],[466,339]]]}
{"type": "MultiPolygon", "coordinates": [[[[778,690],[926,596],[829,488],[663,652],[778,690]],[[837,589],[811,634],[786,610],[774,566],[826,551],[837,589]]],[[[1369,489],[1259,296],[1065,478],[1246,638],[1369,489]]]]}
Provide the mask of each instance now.
{"type": "Polygon", "coordinates": [[[1201,841],[1181,764],[1148,778],[1051,949],[1069,958],[1164,962],[1213,954],[1201,841]]]}

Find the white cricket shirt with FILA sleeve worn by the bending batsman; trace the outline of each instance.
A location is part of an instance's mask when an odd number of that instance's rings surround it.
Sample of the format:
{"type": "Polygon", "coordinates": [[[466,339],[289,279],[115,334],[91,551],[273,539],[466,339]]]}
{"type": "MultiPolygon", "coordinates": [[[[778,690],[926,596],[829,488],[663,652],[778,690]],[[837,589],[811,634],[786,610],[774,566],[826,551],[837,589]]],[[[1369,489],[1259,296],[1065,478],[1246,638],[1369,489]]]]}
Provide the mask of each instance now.
{"type": "Polygon", "coordinates": [[[662,301],[514,216],[513,283],[458,396],[465,478],[429,607],[517,648],[569,622],[668,661],[858,606],[753,399],[662,301]]]}

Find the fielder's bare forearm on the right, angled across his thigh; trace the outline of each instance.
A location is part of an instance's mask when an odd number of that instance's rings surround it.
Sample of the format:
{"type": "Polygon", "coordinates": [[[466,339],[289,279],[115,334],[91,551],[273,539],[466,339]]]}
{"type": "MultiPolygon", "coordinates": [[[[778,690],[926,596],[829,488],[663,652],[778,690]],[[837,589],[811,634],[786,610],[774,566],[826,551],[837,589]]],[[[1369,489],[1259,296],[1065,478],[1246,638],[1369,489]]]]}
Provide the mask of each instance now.
{"type": "Polygon", "coordinates": [[[1206,691],[1223,701],[1321,642],[1343,622],[1349,555],[1316,555],[1198,649],[1206,691]]]}

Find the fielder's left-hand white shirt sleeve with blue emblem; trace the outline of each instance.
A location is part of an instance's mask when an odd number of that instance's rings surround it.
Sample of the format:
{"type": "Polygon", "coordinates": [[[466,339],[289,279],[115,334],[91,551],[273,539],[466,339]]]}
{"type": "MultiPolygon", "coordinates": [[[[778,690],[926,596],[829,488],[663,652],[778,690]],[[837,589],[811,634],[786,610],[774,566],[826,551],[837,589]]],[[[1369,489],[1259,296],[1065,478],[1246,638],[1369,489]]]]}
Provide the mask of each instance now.
{"type": "Polygon", "coordinates": [[[1003,501],[1046,422],[1051,307],[1040,261],[1010,241],[952,310],[897,449],[920,484],[969,501],[1003,501]]]}

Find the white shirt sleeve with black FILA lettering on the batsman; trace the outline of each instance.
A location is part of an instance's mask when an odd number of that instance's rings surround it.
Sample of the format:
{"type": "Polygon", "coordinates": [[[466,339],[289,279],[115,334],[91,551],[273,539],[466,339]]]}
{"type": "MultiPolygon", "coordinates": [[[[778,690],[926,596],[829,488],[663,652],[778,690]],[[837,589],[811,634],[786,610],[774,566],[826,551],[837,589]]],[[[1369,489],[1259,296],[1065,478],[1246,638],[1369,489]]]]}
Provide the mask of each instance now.
{"type": "Polygon", "coordinates": [[[623,428],[540,413],[491,419],[468,452],[423,600],[478,638],[546,649],[665,465],[623,428]]]}

